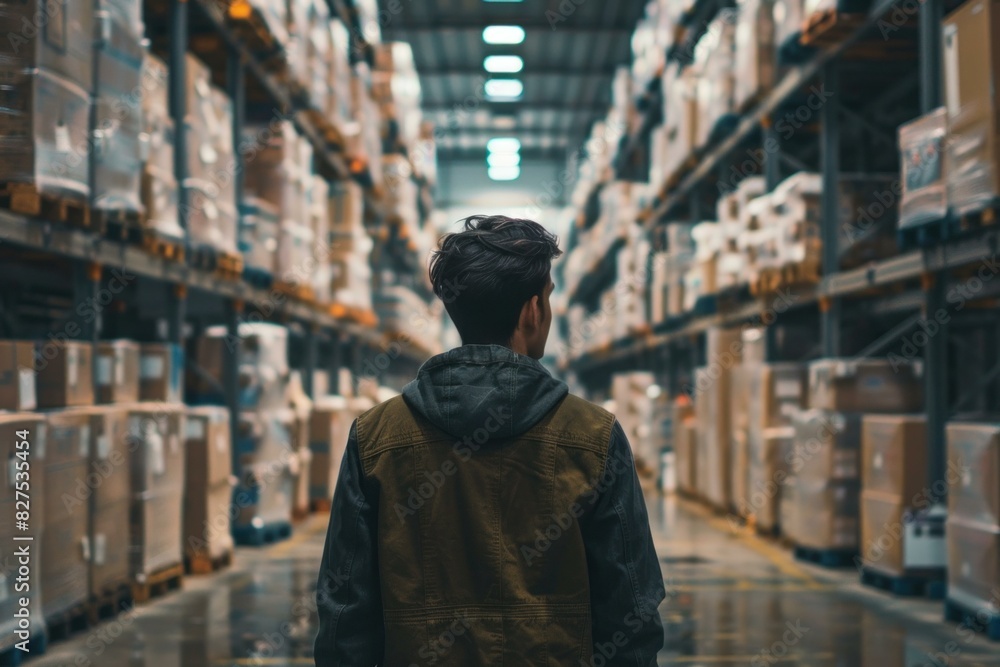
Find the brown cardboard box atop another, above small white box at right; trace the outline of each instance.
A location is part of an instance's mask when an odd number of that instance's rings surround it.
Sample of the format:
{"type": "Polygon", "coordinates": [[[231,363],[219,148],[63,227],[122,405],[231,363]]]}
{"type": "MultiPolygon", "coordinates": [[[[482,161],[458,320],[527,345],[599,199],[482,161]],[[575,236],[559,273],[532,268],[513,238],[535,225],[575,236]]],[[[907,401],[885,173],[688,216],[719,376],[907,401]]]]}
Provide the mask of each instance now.
{"type": "Polygon", "coordinates": [[[928,495],[927,419],[865,415],[861,426],[861,488],[913,503],[928,495]]]}

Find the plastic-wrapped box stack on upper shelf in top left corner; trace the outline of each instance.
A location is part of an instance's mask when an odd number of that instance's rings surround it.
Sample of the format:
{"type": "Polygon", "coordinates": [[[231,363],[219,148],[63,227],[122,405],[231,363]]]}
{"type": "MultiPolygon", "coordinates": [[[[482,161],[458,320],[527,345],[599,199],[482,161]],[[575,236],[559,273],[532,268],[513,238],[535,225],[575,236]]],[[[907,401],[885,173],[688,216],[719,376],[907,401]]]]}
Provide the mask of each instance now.
{"type": "Polygon", "coordinates": [[[10,89],[0,112],[0,181],[85,202],[94,43],[94,7],[64,3],[58,26],[50,3],[30,0],[0,7],[0,69],[10,89]],[[48,26],[24,30],[24,26],[48,26]],[[59,29],[56,29],[56,28],[59,29]]]}

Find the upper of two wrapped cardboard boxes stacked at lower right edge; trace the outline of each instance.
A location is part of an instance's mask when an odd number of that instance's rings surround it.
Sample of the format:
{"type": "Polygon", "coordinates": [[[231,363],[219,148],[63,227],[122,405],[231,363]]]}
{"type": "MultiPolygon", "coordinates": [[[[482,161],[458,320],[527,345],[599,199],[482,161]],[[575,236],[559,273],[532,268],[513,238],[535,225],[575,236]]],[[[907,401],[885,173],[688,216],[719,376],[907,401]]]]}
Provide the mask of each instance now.
{"type": "Polygon", "coordinates": [[[1000,525],[1000,422],[951,422],[948,438],[948,517],[1000,525]]]}

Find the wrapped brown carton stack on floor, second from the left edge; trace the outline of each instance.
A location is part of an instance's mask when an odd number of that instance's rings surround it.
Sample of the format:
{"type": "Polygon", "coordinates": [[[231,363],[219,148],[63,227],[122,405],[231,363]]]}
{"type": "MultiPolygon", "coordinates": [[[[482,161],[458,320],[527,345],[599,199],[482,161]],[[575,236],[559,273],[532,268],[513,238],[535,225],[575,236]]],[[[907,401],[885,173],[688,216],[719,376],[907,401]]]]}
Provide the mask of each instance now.
{"type": "MultiPolygon", "coordinates": [[[[86,602],[89,590],[88,501],[67,503],[79,480],[86,479],[90,454],[90,415],[86,410],[65,410],[46,415],[45,448],[34,454],[42,461],[44,484],[32,487],[40,493],[42,610],[45,618],[69,611],[86,602]]],[[[36,466],[32,466],[33,469],[36,466]]],[[[72,496],[71,496],[72,497],[72,496]]]]}

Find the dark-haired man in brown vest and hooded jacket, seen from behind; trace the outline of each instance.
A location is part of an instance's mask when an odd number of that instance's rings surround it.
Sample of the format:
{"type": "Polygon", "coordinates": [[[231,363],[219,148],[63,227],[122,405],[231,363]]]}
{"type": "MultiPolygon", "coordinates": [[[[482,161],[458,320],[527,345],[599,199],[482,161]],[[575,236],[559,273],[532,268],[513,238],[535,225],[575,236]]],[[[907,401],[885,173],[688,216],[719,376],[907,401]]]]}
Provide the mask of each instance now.
{"type": "Polygon", "coordinates": [[[556,239],[474,216],[430,269],[462,347],[355,421],[318,667],[656,664],[663,578],[614,416],[538,363],[556,239]]]}

